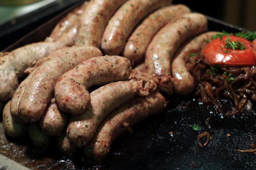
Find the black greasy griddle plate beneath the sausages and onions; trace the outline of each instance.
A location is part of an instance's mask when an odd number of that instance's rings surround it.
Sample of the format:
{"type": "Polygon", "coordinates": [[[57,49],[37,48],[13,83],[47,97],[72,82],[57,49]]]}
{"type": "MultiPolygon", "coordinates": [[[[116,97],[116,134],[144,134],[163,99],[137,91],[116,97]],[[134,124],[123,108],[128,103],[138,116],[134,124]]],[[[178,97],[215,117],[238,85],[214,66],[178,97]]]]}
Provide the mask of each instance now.
{"type": "MultiPolygon", "coordinates": [[[[9,49],[29,41],[33,34],[43,33],[46,27],[50,30],[56,20],[44,24],[9,49]]],[[[209,30],[245,30],[211,17],[208,21],[209,30]]],[[[46,32],[41,36],[47,36],[46,32]]],[[[254,169],[255,155],[235,151],[250,149],[250,144],[256,143],[254,109],[224,117],[213,105],[204,105],[193,95],[165,97],[169,101],[165,110],[132,127],[133,133],[125,132],[118,137],[109,156],[100,163],[87,160],[81,153],[74,158],[65,157],[58,151],[57,143],[38,149],[28,137],[7,137],[2,122],[0,153],[31,169],[254,169]],[[198,128],[193,128],[193,124],[198,128]],[[204,131],[212,138],[201,149],[196,139],[204,131]]],[[[222,104],[226,109],[231,107],[225,100],[222,104]]]]}

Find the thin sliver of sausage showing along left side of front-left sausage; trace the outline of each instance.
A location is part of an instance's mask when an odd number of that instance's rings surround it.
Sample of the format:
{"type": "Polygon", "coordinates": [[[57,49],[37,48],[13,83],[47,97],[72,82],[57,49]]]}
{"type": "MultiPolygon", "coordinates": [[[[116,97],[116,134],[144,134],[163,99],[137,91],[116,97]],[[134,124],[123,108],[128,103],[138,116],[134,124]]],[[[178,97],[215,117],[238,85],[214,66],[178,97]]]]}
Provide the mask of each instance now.
{"type": "Polygon", "coordinates": [[[11,112],[12,118],[15,121],[20,122],[20,123],[25,123],[22,119],[20,119],[20,116],[18,114],[20,98],[24,92],[26,85],[32,78],[33,73],[34,73],[34,71],[20,83],[19,87],[17,88],[17,90],[15,91],[15,93],[12,96],[12,100],[11,100],[11,104],[10,104],[10,112],[11,112]]]}

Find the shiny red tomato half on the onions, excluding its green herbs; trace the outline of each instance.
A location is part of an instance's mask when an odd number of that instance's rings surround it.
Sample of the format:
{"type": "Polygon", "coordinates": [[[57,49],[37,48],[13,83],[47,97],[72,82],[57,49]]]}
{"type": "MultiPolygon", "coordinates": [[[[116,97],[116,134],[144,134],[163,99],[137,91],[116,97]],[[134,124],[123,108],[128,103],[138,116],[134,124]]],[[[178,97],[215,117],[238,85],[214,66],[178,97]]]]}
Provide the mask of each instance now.
{"type": "Polygon", "coordinates": [[[252,51],[252,42],[237,36],[230,35],[230,41],[239,41],[244,43],[244,50],[232,50],[224,48],[228,36],[222,36],[222,39],[216,38],[208,43],[202,50],[202,54],[209,64],[220,64],[227,66],[246,66],[256,65],[256,56],[252,51]],[[229,52],[223,52],[223,51],[229,52]]]}

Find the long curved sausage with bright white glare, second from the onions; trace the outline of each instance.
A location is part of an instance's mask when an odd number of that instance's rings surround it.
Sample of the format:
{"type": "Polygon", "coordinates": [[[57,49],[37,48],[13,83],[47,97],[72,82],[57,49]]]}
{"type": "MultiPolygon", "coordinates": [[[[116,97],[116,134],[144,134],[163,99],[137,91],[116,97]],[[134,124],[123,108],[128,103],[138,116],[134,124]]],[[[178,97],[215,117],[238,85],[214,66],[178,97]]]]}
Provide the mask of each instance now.
{"type": "Polygon", "coordinates": [[[199,13],[189,13],[164,26],[149,44],[145,66],[151,75],[159,77],[159,89],[172,94],[171,59],[187,38],[207,30],[207,19],[199,13]]]}

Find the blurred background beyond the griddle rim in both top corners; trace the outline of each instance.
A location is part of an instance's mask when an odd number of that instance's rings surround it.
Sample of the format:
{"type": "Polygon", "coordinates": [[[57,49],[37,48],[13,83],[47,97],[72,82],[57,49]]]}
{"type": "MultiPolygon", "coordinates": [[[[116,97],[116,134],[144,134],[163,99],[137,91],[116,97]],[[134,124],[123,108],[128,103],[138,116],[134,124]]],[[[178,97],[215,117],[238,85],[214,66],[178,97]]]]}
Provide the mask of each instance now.
{"type": "MultiPolygon", "coordinates": [[[[0,0],[0,51],[84,0],[0,0]]],[[[191,10],[256,31],[256,0],[173,0],[191,10]]]]}

